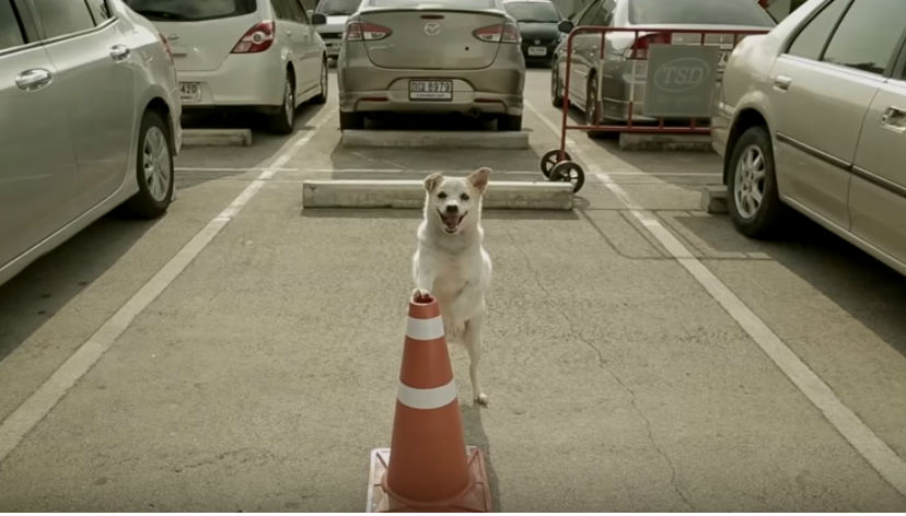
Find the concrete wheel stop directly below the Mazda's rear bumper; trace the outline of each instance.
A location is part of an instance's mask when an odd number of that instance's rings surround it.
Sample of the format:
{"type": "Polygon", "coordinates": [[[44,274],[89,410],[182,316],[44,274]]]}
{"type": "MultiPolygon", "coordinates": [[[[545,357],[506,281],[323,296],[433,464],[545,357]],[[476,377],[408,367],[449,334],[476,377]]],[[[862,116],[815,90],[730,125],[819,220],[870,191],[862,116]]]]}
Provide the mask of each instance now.
{"type": "Polygon", "coordinates": [[[348,148],[528,149],[525,131],[342,131],[348,148]]]}

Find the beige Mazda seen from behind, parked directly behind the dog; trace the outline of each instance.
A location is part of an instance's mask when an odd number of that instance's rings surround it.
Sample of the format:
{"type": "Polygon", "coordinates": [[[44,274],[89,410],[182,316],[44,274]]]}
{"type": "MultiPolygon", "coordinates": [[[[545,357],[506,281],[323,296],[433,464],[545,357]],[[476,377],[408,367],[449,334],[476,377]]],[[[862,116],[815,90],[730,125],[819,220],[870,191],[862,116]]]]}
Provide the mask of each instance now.
{"type": "Polygon", "coordinates": [[[521,130],[520,42],[501,0],[363,0],[337,60],[340,127],[380,112],[462,113],[521,130]]]}

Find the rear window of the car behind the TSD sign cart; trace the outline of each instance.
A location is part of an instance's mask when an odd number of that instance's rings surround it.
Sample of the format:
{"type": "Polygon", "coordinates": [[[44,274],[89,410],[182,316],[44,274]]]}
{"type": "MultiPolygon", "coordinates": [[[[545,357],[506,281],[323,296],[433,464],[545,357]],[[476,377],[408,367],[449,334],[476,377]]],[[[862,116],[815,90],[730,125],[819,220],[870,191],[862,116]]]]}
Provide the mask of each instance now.
{"type": "Polygon", "coordinates": [[[634,25],[754,25],[774,26],[774,20],[755,0],[631,0],[634,25]]]}

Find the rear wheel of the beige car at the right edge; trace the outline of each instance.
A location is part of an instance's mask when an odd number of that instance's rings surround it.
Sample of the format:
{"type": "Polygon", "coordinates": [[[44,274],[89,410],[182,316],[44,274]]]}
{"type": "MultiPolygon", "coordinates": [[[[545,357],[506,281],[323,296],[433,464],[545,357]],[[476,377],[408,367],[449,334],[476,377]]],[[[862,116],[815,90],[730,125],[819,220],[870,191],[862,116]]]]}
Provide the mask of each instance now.
{"type": "Polygon", "coordinates": [[[767,237],[783,219],[775,174],[774,149],[764,127],[746,130],[733,146],[727,176],[733,225],[751,237],[767,237]]]}

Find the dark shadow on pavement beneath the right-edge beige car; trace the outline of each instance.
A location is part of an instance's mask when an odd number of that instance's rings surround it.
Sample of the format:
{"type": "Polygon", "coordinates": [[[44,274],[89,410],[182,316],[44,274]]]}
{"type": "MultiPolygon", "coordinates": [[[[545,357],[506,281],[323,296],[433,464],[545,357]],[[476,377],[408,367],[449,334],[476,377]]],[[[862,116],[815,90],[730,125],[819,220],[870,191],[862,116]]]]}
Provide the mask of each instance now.
{"type": "Polygon", "coordinates": [[[727,216],[676,221],[716,250],[766,254],[906,356],[906,279],[817,223],[793,213],[776,239],[755,241],[727,216]]]}

